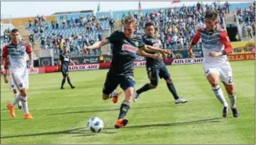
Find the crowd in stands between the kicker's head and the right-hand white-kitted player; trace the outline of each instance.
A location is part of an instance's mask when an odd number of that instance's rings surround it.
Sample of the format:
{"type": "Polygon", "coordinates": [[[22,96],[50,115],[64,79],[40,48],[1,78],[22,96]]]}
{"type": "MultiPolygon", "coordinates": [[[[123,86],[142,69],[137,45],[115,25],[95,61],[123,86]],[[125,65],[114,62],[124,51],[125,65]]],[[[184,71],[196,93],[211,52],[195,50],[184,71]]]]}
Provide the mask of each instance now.
{"type": "MultiPolygon", "coordinates": [[[[135,34],[144,34],[144,25],[146,22],[153,22],[156,28],[156,35],[163,44],[163,48],[171,50],[186,49],[189,46],[193,36],[195,36],[198,27],[204,26],[204,13],[206,10],[216,10],[219,12],[219,27],[224,28],[223,19],[225,13],[229,13],[230,4],[219,5],[202,4],[198,2],[192,6],[177,8],[167,8],[166,10],[155,10],[153,13],[131,13],[136,19],[135,34]]],[[[122,22],[126,18],[123,15],[122,22]]],[[[201,42],[195,45],[195,49],[201,49],[201,42]]]]}

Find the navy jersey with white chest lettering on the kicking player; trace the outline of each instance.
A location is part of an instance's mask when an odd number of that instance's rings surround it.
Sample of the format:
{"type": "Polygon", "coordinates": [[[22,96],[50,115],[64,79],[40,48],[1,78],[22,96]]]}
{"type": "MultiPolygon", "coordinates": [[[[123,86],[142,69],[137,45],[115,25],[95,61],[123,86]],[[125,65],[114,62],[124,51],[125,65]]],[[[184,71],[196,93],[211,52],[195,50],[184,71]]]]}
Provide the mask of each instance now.
{"type": "Polygon", "coordinates": [[[144,47],[141,36],[126,38],[119,30],[106,38],[112,43],[113,57],[109,72],[118,76],[133,76],[134,62],[139,48],[144,47]]]}

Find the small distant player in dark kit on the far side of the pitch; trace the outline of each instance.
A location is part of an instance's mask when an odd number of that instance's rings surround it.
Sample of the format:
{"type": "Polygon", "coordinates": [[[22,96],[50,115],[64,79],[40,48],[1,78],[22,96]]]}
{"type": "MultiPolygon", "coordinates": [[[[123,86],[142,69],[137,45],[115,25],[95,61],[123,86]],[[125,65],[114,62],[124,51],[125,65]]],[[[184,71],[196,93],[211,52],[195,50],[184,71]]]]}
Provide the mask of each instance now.
{"type": "MultiPolygon", "coordinates": [[[[61,82],[61,89],[64,89],[64,83],[66,82],[66,78],[67,78],[67,82],[70,84],[70,87],[73,89],[75,88],[75,86],[73,86],[70,82],[70,77],[68,75],[68,65],[70,65],[70,62],[73,63],[73,65],[76,65],[70,57],[70,54],[68,54],[67,52],[67,46],[64,47],[64,52],[60,53],[60,59],[58,60],[58,64],[61,65],[61,73],[63,76],[62,82],[61,82]]],[[[58,69],[58,67],[57,67],[58,69]]]]}

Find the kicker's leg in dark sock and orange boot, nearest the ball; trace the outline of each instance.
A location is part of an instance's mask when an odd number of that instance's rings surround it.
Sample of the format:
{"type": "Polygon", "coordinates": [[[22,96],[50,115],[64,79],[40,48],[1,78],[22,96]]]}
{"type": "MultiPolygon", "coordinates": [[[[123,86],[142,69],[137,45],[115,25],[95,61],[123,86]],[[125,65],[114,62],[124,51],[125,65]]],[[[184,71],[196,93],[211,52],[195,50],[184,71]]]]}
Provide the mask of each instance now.
{"type": "Polygon", "coordinates": [[[133,92],[134,92],[135,82],[133,77],[123,77],[121,79],[121,88],[124,90],[125,99],[120,107],[120,113],[118,116],[118,121],[115,123],[115,128],[124,127],[127,125],[128,120],[124,119],[129,111],[130,103],[132,102],[133,92]]]}

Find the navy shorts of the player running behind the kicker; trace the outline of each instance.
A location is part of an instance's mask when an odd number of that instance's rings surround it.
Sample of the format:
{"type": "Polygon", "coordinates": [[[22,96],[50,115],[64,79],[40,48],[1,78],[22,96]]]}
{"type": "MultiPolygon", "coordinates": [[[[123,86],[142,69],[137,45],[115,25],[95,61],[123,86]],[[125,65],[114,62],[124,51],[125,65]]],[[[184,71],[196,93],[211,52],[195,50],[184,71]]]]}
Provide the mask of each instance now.
{"type": "Polygon", "coordinates": [[[150,84],[154,86],[158,85],[159,77],[160,79],[164,78],[165,80],[171,78],[171,75],[165,65],[162,65],[159,68],[148,67],[147,76],[150,79],[150,84]]]}

